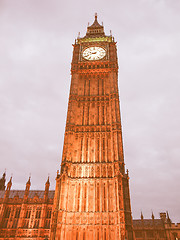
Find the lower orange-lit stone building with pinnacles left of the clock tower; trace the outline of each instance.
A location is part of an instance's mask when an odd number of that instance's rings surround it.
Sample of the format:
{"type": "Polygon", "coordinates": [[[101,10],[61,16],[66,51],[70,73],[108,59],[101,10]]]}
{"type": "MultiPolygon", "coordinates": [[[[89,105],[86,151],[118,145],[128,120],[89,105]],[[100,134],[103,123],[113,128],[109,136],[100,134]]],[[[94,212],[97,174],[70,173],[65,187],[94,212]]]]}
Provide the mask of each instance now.
{"type": "MultiPolygon", "coordinates": [[[[44,191],[0,190],[0,239],[49,239],[54,191],[49,191],[49,178],[44,191]]],[[[2,189],[2,188],[1,188],[2,189]]]]}

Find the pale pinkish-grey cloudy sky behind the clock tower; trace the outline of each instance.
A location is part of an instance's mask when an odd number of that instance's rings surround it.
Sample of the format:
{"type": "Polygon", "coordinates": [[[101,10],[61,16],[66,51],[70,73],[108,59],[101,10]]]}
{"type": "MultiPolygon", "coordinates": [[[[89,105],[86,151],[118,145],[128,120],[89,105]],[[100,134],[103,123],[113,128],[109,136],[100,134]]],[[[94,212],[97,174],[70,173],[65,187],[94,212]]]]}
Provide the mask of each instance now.
{"type": "Polygon", "coordinates": [[[117,41],[133,217],[180,222],[179,0],[0,0],[0,173],[55,188],[72,44],[95,12],[117,41]]]}

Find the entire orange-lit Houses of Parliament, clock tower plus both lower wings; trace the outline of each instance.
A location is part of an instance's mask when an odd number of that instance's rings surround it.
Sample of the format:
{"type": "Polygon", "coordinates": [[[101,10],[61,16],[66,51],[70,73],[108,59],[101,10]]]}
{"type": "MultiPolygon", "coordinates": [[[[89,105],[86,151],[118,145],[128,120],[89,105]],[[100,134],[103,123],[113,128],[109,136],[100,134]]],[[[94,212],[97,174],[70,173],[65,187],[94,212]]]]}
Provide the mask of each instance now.
{"type": "Polygon", "coordinates": [[[13,190],[0,179],[0,240],[178,240],[168,213],[132,219],[125,171],[116,42],[98,23],[73,45],[71,87],[56,188],[13,190]]]}

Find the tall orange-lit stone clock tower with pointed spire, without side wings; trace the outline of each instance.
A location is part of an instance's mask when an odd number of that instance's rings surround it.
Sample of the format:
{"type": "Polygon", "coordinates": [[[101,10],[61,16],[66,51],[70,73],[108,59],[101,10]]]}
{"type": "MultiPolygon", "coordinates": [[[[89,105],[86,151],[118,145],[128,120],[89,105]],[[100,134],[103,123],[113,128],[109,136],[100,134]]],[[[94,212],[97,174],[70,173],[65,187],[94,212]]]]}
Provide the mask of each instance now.
{"type": "Polygon", "coordinates": [[[51,240],[133,239],[116,42],[97,21],[74,44],[51,240]]]}

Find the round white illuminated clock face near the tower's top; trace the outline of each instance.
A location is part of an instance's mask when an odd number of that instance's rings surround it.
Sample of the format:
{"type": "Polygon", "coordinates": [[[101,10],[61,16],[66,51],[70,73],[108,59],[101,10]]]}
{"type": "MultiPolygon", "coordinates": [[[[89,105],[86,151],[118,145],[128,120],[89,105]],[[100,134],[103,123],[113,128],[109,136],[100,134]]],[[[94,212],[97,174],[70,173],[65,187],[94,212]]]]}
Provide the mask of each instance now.
{"type": "Polygon", "coordinates": [[[106,50],[102,47],[89,47],[86,48],[82,56],[86,60],[100,60],[106,55],[106,50]]]}

